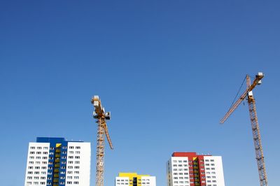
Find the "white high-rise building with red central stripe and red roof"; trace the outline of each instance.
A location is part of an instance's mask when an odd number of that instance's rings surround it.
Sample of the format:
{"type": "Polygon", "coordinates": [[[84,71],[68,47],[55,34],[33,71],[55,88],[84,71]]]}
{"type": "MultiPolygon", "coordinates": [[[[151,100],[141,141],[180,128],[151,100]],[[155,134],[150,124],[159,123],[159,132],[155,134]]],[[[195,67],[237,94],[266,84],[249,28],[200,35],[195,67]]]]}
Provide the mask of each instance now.
{"type": "Polygon", "coordinates": [[[225,186],[222,157],[174,152],[167,162],[167,186],[225,186]]]}

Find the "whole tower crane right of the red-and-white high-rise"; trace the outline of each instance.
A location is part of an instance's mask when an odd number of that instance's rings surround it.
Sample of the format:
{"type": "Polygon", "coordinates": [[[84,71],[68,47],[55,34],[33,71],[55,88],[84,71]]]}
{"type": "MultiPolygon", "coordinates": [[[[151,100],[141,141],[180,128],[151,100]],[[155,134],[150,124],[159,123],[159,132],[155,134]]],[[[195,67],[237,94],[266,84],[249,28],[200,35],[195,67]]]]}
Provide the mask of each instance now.
{"type": "Polygon", "coordinates": [[[260,140],[260,128],[258,124],[258,117],[257,117],[257,111],[255,108],[255,99],[253,98],[253,92],[252,90],[255,88],[256,85],[261,84],[261,80],[264,77],[263,73],[258,73],[255,76],[255,80],[253,80],[253,83],[251,84],[251,78],[250,76],[246,75],[246,90],[239,99],[232,104],[230,109],[228,110],[228,113],[225,114],[225,116],[221,119],[221,123],[225,122],[225,120],[228,119],[228,117],[232,114],[233,111],[239,106],[239,104],[247,98],[248,101],[248,108],[250,113],[250,119],[251,119],[251,128],[253,132],[253,143],[255,146],[255,158],[257,159],[258,164],[258,175],[260,178],[260,186],[267,186],[267,174],[265,171],[265,159],[262,152],[262,143],[260,140]]]}

